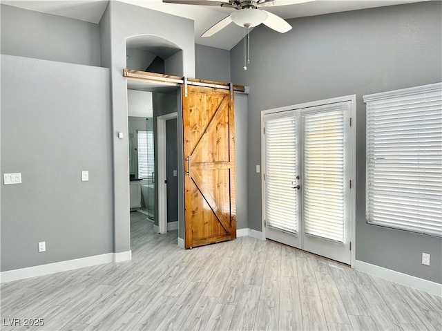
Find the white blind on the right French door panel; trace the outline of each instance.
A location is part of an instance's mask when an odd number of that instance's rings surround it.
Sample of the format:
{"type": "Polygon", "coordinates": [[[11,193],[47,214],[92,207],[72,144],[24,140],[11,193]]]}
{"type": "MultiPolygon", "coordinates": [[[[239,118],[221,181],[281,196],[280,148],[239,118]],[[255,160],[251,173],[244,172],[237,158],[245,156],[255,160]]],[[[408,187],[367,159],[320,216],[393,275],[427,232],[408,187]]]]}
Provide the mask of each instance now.
{"type": "Polygon", "coordinates": [[[343,109],[305,116],[304,231],[340,243],[345,221],[344,151],[343,109]]]}

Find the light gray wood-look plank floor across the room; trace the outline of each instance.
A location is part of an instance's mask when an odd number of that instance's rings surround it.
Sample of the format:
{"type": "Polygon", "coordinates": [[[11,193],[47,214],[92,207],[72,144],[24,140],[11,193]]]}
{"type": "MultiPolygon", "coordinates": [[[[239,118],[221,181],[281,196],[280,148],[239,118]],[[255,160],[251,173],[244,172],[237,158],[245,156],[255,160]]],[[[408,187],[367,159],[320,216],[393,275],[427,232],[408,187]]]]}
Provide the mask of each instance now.
{"type": "MultiPolygon", "coordinates": [[[[131,214],[132,261],[1,286],[30,330],[442,330],[442,300],[269,241],[184,250],[131,214]]],[[[2,330],[26,328],[3,326],[2,330]]]]}

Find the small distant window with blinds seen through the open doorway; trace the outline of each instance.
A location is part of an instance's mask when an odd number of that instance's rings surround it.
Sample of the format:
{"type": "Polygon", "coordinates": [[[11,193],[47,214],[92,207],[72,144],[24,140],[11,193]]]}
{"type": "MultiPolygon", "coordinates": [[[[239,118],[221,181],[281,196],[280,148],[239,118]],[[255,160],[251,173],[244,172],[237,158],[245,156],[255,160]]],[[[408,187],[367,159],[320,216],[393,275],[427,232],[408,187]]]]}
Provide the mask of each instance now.
{"type": "Polygon", "coordinates": [[[153,131],[138,130],[138,178],[152,179],[153,162],[153,131]]]}

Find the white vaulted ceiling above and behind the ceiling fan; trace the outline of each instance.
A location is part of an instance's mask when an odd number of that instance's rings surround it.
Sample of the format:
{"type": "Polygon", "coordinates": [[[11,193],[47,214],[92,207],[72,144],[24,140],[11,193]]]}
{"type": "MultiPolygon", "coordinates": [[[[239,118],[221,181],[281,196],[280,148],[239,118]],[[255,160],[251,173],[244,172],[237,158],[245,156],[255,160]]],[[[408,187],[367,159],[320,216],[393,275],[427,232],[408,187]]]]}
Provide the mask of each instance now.
{"type": "MultiPolygon", "coordinates": [[[[120,0],[135,6],[167,12],[172,15],[186,17],[195,21],[195,43],[230,50],[238,44],[244,36],[240,26],[231,23],[224,30],[212,37],[202,38],[200,35],[216,22],[227,17],[234,9],[215,6],[191,6],[181,4],[162,3],[162,0],[120,0]]],[[[226,1],[227,0],[222,0],[226,1]]],[[[278,6],[266,7],[284,19],[323,15],[332,12],[345,12],[382,6],[392,6],[403,3],[421,2],[429,0],[276,0],[278,6]],[[308,2],[302,2],[308,1],[308,2]]],[[[433,0],[430,0],[433,1],[433,0]]],[[[1,3],[19,8],[47,12],[53,15],[80,19],[92,23],[99,23],[108,1],[104,0],[1,0],[1,3]]],[[[278,32],[275,32],[276,34],[278,32]]]]}

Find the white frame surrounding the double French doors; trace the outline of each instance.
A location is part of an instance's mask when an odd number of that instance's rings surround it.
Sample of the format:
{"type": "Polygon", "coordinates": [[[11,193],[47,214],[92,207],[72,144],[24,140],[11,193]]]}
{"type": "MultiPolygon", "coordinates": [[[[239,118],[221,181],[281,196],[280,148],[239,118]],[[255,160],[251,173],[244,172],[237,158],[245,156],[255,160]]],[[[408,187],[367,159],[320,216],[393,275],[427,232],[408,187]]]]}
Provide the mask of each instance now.
{"type": "Polygon", "coordinates": [[[350,223],[351,223],[351,251],[350,251],[350,261],[351,267],[354,267],[356,263],[356,95],[347,95],[344,97],[335,97],[327,100],[318,100],[314,102],[306,102],[304,104],[296,104],[292,106],[285,106],[280,108],[273,108],[265,111],[261,111],[261,167],[263,171],[261,171],[261,217],[262,217],[262,238],[266,238],[265,234],[265,153],[264,153],[264,145],[265,138],[262,134],[264,132],[264,117],[270,113],[279,113],[282,111],[294,111],[296,109],[301,108],[309,108],[313,106],[322,106],[325,104],[334,104],[338,102],[350,102],[350,117],[352,117],[352,126],[350,128],[350,141],[352,146],[350,147],[350,163],[351,163],[351,174],[350,179],[352,180],[352,191],[351,191],[351,213],[350,213],[350,223]]]}

